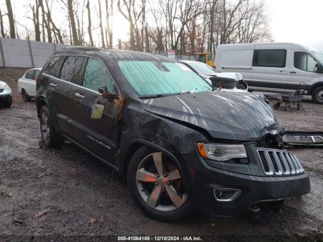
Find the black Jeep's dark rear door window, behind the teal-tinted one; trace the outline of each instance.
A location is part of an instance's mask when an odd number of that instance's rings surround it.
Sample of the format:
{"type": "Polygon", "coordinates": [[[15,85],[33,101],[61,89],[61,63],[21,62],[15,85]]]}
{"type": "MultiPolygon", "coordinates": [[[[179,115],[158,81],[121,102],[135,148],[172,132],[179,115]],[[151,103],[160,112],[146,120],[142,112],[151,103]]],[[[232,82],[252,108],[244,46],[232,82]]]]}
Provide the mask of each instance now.
{"type": "Polygon", "coordinates": [[[82,86],[85,60],[85,56],[67,56],[61,70],[60,79],[82,86]]]}

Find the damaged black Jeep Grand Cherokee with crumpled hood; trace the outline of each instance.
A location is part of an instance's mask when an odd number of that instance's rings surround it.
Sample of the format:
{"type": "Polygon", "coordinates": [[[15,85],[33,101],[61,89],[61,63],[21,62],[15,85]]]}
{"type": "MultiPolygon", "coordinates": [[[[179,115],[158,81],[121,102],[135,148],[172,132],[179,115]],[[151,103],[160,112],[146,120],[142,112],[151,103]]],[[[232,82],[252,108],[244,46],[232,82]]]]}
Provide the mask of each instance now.
{"type": "Polygon", "coordinates": [[[117,169],[156,219],[183,219],[192,208],[266,213],[310,191],[263,95],[214,91],[163,56],[56,51],[38,78],[36,104],[46,146],[70,140],[117,169]]]}

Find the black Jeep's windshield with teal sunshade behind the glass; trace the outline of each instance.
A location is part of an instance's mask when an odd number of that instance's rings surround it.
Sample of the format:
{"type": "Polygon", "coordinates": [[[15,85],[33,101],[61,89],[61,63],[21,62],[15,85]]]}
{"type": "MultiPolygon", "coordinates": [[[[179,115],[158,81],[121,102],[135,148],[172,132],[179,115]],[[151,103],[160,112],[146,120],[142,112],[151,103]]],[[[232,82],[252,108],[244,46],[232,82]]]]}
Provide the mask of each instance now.
{"type": "Polygon", "coordinates": [[[181,63],[167,61],[119,61],[131,86],[141,96],[179,94],[182,91],[209,91],[212,87],[181,63]]]}

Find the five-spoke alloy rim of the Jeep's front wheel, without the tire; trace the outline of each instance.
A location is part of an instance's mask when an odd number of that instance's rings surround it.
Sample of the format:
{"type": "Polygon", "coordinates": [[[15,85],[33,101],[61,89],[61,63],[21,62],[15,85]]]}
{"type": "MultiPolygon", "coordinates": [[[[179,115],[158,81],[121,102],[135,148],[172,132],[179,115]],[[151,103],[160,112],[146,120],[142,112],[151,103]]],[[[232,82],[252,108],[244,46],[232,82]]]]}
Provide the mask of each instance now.
{"type": "Polygon", "coordinates": [[[159,211],[176,210],[187,199],[179,170],[161,152],[143,158],[137,169],[136,185],[141,198],[159,211]]]}

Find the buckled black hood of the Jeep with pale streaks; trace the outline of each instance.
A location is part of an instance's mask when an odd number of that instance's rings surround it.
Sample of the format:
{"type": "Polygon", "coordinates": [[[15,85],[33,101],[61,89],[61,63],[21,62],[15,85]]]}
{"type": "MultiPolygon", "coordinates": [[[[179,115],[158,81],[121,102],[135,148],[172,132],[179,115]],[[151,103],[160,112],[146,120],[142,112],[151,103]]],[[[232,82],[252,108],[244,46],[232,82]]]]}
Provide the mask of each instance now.
{"type": "Polygon", "coordinates": [[[212,138],[252,141],[281,132],[262,94],[199,92],[143,101],[148,112],[204,129],[212,138]]]}

